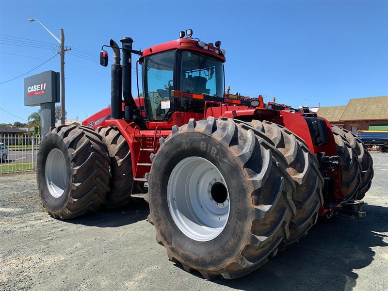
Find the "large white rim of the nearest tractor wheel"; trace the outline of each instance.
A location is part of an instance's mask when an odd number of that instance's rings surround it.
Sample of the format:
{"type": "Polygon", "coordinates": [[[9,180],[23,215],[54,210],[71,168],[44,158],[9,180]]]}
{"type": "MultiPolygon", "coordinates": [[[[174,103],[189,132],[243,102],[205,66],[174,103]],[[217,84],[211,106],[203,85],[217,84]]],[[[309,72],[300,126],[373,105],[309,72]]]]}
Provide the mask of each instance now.
{"type": "Polygon", "coordinates": [[[229,218],[229,193],[217,167],[201,157],[178,162],[167,184],[171,216],[189,238],[208,242],[221,234],[229,218]]]}

